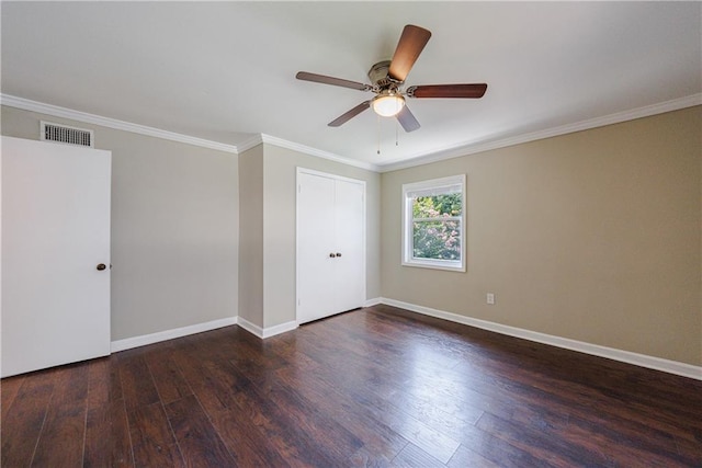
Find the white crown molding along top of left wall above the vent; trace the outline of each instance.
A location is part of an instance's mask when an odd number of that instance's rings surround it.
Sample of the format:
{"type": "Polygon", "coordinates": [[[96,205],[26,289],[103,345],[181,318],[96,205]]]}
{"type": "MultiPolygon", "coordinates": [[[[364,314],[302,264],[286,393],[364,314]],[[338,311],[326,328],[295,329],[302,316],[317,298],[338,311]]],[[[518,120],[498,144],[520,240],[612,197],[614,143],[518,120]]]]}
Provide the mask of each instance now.
{"type": "Polygon", "coordinates": [[[145,125],[133,124],[129,122],[117,121],[116,118],[103,117],[101,115],[89,114],[87,112],[73,111],[71,109],[60,107],[58,105],[45,104],[43,102],[31,101],[24,98],[18,98],[10,94],[0,94],[0,104],[9,107],[16,107],[23,111],[38,112],[41,114],[52,115],[54,117],[70,118],[86,124],[100,125],[102,127],[113,128],[115,130],[132,132],[149,137],[162,138],[171,141],[184,142],[188,145],[200,146],[203,148],[216,149],[225,152],[237,155],[239,151],[234,145],[226,145],[218,141],[212,141],[203,138],[191,137],[188,135],[177,134],[173,132],[162,130],[160,128],[147,127],[145,125]]]}

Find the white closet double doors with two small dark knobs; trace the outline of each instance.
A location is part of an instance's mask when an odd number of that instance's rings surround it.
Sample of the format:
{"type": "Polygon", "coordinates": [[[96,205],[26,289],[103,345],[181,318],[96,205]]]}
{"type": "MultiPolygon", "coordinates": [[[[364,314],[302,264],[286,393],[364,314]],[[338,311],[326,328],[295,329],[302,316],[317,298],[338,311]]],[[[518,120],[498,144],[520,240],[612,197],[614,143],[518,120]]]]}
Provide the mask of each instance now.
{"type": "Polygon", "coordinates": [[[298,169],[297,322],[365,300],[365,183],[298,169]]]}

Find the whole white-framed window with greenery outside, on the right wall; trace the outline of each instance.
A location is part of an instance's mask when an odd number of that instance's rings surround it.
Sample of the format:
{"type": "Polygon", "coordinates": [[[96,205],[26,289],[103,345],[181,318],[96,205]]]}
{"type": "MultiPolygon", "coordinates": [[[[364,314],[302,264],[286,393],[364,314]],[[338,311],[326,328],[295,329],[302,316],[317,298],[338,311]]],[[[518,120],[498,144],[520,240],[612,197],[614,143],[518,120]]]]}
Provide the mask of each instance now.
{"type": "Polygon", "coordinates": [[[403,185],[403,265],[465,272],[465,174],[403,185]]]}

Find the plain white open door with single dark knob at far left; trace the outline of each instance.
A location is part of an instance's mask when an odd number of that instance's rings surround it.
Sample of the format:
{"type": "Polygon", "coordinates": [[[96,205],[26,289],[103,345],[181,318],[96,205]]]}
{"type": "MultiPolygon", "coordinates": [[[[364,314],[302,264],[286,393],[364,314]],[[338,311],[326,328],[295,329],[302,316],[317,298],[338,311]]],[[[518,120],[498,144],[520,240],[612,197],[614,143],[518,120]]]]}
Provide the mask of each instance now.
{"type": "Polygon", "coordinates": [[[2,137],[3,377],[110,354],[111,159],[2,137]]]}

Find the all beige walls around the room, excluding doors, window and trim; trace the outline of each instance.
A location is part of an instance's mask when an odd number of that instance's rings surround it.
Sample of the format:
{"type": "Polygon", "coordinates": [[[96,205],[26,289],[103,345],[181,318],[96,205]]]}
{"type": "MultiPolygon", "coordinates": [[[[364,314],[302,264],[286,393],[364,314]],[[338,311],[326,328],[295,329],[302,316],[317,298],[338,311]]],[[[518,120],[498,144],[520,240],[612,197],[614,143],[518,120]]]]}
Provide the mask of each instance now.
{"type": "Polygon", "coordinates": [[[7,106],[2,135],[37,139],[39,119],[93,128],[113,151],[113,340],[237,313],[261,328],[295,320],[303,167],[366,181],[369,299],[702,364],[700,106],[384,174],[7,106]],[[400,266],[401,184],[456,173],[467,272],[400,266]]]}

